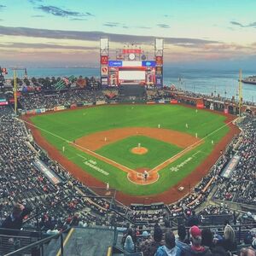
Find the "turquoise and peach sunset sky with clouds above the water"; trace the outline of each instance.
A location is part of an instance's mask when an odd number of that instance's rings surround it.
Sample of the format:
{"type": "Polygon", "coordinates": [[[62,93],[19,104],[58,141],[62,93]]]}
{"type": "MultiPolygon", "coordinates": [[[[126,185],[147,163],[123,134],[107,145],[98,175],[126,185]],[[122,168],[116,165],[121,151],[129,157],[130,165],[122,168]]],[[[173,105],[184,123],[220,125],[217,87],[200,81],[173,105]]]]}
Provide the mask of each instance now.
{"type": "Polygon", "coordinates": [[[0,65],[98,67],[125,44],[170,65],[256,67],[256,0],[0,0],[0,65]],[[202,64],[201,64],[202,65],[202,64]]]}

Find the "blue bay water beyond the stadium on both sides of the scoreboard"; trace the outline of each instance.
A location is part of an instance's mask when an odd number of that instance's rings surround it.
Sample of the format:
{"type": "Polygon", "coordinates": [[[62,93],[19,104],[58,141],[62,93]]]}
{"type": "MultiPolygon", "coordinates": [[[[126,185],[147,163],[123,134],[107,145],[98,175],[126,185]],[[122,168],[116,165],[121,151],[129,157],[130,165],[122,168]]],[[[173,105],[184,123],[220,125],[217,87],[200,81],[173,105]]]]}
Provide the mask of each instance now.
{"type": "MultiPolygon", "coordinates": [[[[99,78],[99,68],[27,68],[27,74],[32,77],[78,77],[99,78]]],[[[12,75],[9,73],[9,77],[12,75]]],[[[242,77],[256,75],[254,70],[243,70],[242,77]]],[[[22,72],[18,73],[23,76],[22,72]]],[[[164,67],[164,84],[175,84],[178,88],[203,94],[238,97],[239,70],[193,69],[181,67],[164,67]],[[179,79],[180,78],[180,79],[179,79]]],[[[242,96],[245,101],[256,102],[256,84],[242,84],[242,96]]]]}

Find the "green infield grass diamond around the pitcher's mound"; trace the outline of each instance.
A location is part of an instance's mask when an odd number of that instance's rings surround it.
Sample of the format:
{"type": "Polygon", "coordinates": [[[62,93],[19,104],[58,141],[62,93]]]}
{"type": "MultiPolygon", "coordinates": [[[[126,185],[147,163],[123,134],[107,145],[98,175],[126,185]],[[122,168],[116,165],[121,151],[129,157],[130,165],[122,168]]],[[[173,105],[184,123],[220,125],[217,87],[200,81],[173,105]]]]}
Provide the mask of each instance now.
{"type": "Polygon", "coordinates": [[[132,136],[116,143],[110,143],[107,146],[96,150],[96,153],[131,169],[142,167],[151,169],[181,150],[182,148],[178,148],[175,145],[164,143],[150,137],[132,136]],[[146,154],[131,153],[131,149],[137,147],[138,143],[141,144],[141,147],[148,149],[146,154]]]}

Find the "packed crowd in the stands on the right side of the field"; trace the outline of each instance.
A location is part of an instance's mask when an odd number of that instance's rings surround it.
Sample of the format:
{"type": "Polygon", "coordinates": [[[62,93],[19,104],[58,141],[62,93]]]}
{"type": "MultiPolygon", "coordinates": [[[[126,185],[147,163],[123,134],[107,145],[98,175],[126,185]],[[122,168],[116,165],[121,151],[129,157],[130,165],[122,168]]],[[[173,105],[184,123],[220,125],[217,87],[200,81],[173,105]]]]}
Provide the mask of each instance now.
{"type": "Polygon", "coordinates": [[[215,198],[256,205],[256,120],[245,118],[236,154],[239,162],[230,178],[219,179],[215,198]]]}

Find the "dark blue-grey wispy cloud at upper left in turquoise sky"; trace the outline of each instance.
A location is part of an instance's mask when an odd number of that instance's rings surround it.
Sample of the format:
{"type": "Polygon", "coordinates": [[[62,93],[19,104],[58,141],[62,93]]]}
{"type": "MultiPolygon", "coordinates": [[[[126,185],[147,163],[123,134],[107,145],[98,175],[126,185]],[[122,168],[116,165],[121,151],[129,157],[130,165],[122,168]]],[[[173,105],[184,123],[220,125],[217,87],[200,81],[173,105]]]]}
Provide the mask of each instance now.
{"type": "Polygon", "coordinates": [[[67,9],[61,9],[59,7],[56,6],[52,6],[52,5],[39,5],[36,9],[39,9],[41,11],[43,11],[44,13],[48,14],[48,15],[55,15],[58,17],[86,17],[86,16],[93,16],[90,13],[80,13],[77,11],[71,11],[71,10],[67,10],[67,9]]]}

